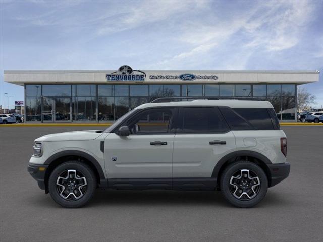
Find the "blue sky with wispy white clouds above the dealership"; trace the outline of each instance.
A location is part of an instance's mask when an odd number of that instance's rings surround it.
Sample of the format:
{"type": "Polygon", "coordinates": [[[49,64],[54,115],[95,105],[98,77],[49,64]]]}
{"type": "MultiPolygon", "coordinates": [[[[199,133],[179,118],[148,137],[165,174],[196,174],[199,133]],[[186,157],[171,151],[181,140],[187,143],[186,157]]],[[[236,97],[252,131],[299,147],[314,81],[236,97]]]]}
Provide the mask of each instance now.
{"type": "MultiPolygon", "coordinates": [[[[319,70],[304,87],[323,105],[323,0],[0,0],[4,70],[319,70]]],[[[6,97],[6,106],[8,98],[6,97]]]]}

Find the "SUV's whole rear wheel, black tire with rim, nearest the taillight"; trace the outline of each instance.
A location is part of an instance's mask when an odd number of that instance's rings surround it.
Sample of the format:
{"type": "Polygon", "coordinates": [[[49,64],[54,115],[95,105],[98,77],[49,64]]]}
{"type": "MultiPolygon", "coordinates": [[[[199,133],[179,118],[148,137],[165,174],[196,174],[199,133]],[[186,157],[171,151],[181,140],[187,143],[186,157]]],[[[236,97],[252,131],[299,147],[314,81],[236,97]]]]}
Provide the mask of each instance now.
{"type": "Polygon", "coordinates": [[[260,166],[250,161],[237,161],[223,171],[220,187],[225,199],[232,205],[238,208],[250,208],[266,195],[268,179],[260,166]],[[246,178],[243,178],[245,175],[246,178]]]}

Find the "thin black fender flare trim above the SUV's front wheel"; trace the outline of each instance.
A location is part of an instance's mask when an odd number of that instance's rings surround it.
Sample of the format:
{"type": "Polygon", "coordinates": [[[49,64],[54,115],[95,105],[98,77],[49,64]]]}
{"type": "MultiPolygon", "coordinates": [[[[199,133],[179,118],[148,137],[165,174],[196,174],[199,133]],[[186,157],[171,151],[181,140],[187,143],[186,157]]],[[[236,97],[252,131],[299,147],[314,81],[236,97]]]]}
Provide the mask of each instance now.
{"type": "Polygon", "coordinates": [[[51,162],[64,157],[64,156],[69,156],[69,155],[73,155],[73,156],[81,156],[85,159],[87,159],[89,162],[91,162],[91,164],[95,167],[97,173],[99,174],[99,178],[100,179],[105,179],[104,177],[104,172],[102,170],[101,165],[99,164],[99,162],[90,154],[84,152],[84,151],[79,151],[79,150],[64,150],[64,151],[60,151],[56,154],[53,154],[52,156],[50,156],[46,161],[45,161],[45,165],[50,165],[51,162]]]}

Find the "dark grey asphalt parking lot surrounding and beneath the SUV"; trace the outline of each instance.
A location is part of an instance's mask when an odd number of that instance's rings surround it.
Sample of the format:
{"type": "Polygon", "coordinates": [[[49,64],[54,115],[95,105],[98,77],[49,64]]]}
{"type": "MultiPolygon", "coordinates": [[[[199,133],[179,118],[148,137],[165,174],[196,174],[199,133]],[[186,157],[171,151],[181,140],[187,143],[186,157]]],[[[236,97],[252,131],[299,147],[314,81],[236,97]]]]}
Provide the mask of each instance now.
{"type": "Polygon", "coordinates": [[[291,174],[254,208],[220,192],[97,190],[64,209],[27,172],[39,136],[104,127],[0,127],[0,240],[322,241],[323,126],[283,126],[291,174]]]}

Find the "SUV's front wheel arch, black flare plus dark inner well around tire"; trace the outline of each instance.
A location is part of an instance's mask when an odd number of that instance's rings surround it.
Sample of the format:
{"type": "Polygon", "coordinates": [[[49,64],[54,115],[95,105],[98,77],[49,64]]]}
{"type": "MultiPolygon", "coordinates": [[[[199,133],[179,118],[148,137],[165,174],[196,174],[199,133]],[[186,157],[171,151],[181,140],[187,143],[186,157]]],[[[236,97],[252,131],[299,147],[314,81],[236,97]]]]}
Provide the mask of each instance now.
{"type": "Polygon", "coordinates": [[[98,183],[100,183],[101,180],[105,180],[102,167],[93,156],[91,156],[88,153],[85,153],[83,151],[64,150],[64,151],[60,151],[60,152],[50,156],[44,163],[45,165],[48,165],[46,172],[45,172],[45,180],[44,180],[46,194],[48,193],[48,179],[49,179],[50,173],[58,165],[60,165],[64,162],[67,162],[67,161],[71,161],[71,160],[77,160],[77,161],[83,162],[84,164],[89,165],[92,168],[92,170],[97,178],[96,180],[98,183]]]}

